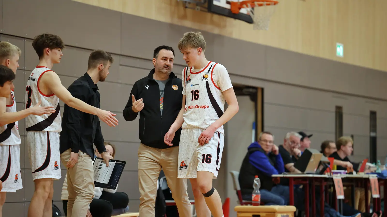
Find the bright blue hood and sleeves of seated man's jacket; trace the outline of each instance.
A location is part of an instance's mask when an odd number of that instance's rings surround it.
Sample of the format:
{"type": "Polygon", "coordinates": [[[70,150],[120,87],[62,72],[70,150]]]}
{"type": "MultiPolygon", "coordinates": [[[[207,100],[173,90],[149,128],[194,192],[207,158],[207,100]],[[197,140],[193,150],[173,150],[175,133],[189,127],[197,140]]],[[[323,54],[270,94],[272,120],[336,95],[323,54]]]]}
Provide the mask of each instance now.
{"type": "MultiPolygon", "coordinates": [[[[253,142],[252,144],[250,144],[250,146],[248,146],[247,149],[250,149],[253,147],[262,148],[260,144],[258,144],[258,142],[253,142]]],[[[252,154],[250,154],[249,162],[255,168],[262,171],[267,176],[278,175],[285,171],[284,162],[281,158],[281,154],[276,155],[276,162],[274,163],[275,167],[270,164],[269,158],[267,158],[267,155],[265,155],[260,151],[255,151],[252,154]]]]}

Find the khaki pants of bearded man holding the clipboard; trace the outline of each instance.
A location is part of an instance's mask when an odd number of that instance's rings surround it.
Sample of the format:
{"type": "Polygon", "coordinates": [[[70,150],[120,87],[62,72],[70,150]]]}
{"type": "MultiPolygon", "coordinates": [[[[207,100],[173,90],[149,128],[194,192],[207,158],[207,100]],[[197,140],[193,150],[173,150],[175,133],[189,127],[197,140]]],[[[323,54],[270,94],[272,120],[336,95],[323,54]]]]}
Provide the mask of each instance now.
{"type": "MultiPolygon", "coordinates": [[[[71,149],[60,155],[63,165],[70,159],[71,149]]],[[[91,157],[79,151],[78,162],[67,168],[67,217],[85,217],[94,197],[94,169],[91,157]]]]}

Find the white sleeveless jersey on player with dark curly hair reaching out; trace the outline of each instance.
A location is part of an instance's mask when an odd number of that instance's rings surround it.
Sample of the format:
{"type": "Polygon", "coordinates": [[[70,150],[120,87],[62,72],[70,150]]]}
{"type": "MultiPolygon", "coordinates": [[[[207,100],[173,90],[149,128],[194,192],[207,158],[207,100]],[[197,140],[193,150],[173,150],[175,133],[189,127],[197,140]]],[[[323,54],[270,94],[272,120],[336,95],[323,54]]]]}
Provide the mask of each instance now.
{"type": "Polygon", "coordinates": [[[26,117],[27,131],[62,131],[60,119],[59,98],[55,94],[45,95],[39,90],[39,78],[47,71],[52,71],[45,66],[36,66],[27,80],[26,87],[26,108],[36,105],[41,101],[40,106],[53,106],[54,113],[38,115],[28,115],[26,117]]]}

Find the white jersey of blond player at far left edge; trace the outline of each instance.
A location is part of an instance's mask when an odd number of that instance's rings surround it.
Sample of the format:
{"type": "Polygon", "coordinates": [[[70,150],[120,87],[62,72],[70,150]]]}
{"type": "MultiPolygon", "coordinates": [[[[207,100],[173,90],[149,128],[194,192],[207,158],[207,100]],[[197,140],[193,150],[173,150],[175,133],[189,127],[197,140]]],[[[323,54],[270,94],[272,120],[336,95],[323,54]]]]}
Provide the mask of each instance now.
{"type": "MultiPolygon", "coordinates": [[[[12,105],[7,105],[5,112],[16,112],[16,101],[14,92],[11,91],[12,105]]],[[[2,146],[14,146],[20,145],[21,139],[19,135],[19,125],[15,121],[13,123],[0,127],[0,145],[2,146]]]]}

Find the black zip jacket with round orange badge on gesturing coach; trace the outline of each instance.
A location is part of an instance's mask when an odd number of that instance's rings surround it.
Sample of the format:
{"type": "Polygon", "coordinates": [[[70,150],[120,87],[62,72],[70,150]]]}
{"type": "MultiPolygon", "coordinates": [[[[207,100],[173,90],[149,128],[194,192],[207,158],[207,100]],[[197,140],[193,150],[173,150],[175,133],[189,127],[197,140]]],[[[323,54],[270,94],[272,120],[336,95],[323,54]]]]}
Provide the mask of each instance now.
{"type": "Polygon", "coordinates": [[[128,103],[122,112],[123,117],[127,121],[132,121],[139,114],[139,138],[142,144],[159,149],[178,146],[181,128],[175,132],[175,137],[172,140],[173,146],[165,144],[164,136],[182,109],[182,80],[171,72],[164,87],[163,114],[161,115],[160,89],[157,81],[153,79],[153,73],[154,69],[149,72],[148,76],[134,83],[128,103]],[[132,110],[132,94],[136,100],[142,98],[142,102],[145,104],[140,112],[132,110]]]}

